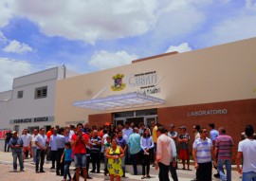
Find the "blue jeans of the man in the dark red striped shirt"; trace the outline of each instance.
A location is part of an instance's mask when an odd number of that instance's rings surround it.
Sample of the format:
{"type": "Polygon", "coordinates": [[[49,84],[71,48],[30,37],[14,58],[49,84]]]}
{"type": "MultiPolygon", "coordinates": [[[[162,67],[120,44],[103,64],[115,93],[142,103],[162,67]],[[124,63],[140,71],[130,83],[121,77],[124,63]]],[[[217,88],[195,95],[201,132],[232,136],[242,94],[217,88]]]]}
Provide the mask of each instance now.
{"type": "Polygon", "coordinates": [[[222,181],[231,181],[231,160],[230,159],[218,159],[218,172],[220,173],[220,179],[222,181]],[[223,166],[226,166],[227,176],[224,173],[223,166]]]}

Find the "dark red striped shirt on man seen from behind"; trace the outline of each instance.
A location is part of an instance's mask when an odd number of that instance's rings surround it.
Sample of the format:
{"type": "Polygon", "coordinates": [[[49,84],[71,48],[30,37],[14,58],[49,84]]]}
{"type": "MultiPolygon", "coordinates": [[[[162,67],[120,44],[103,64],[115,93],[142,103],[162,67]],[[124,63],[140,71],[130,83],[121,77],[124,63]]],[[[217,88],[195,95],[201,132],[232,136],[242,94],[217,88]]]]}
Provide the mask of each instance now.
{"type": "Polygon", "coordinates": [[[218,159],[229,160],[232,158],[231,148],[234,146],[232,137],[227,135],[220,135],[216,138],[215,147],[219,149],[218,159]]]}

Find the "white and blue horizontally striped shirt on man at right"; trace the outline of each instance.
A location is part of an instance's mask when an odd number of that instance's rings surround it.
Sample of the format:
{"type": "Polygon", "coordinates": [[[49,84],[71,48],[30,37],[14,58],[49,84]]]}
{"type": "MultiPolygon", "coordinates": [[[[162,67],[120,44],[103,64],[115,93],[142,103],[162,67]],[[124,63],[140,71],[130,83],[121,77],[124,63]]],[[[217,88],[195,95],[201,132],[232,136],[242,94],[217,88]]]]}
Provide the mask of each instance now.
{"type": "Polygon", "coordinates": [[[212,142],[210,138],[206,139],[197,138],[192,144],[192,149],[196,150],[197,163],[211,162],[210,149],[212,148],[212,142]]]}

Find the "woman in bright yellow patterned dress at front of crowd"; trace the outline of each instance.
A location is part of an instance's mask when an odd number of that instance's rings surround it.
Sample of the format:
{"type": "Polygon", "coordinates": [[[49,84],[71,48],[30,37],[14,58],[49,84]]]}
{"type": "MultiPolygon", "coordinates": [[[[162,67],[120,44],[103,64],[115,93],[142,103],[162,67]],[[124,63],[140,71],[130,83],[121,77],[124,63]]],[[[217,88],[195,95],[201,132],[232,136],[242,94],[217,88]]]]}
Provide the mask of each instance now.
{"type": "Polygon", "coordinates": [[[123,156],[123,150],[117,145],[116,139],[112,139],[112,146],[106,151],[110,181],[114,181],[114,177],[116,177],[117,181],[120,181],[120,176],[123,174],[121,169],[121,157],[123,156]]]}

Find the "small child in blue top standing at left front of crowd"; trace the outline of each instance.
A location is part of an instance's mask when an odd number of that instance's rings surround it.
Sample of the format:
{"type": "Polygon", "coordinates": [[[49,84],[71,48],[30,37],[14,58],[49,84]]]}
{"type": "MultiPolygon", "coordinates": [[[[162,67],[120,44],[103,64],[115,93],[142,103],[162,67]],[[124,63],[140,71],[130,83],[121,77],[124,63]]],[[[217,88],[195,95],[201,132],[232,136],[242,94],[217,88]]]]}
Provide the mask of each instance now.
{"type": "Polygon", "coordinates": [[[63,163],[64,161],[64,180],[63,181],[66,181],[66,175],[68,175],[69,180],[71,180],[71,175],[69,172],[69,166],[72,162],[71,154],[72,154],[72,149],[71,149],[70,142],[64,143],[64,154],[62,155],[62,158],[61,158],[61,163],[63,163]]]}

